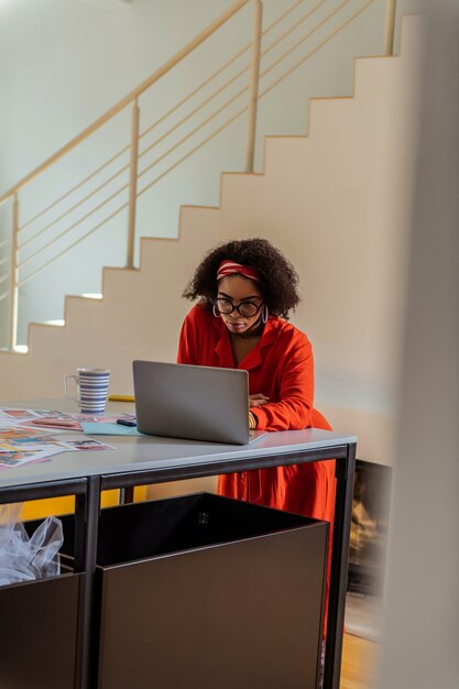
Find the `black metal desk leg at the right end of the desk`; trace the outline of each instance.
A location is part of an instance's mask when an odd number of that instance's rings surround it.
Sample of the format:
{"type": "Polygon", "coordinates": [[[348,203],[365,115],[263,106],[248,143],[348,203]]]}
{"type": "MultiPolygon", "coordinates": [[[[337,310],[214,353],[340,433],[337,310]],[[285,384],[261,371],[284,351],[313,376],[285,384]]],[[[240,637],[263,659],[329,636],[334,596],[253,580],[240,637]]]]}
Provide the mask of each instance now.
{"type": "Polygon", "coordinates": [[[336,460],[337,491],[335,503],[334,547],[328,599],[327,644],[324,689],[339,689],[342,633],[345,626],[346,588],[348,582],[349,536],[352,516],[352,492],[356,469],[356,445],[348,446],[348,456],[336,460]]]}

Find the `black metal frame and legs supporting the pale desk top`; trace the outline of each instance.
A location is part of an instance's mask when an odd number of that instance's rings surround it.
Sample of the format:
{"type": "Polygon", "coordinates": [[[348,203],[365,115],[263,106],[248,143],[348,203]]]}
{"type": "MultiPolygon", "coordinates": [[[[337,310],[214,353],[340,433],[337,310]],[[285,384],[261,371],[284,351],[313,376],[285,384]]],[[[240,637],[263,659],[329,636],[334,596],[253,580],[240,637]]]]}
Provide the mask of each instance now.
{"type": "Polygon", "coordinates": [[[165,483],[167,481],[197,479],[221,473],[249,471],[250,469],[265,469],[327,459],[336,460],[337,492],[324,689],[339,689],[348,573],[348,545],[356,467],[354,442],[291,452],[284,448],[282,455],[266,455],[265,457],[247,460],[241,460],[240,458],[228,459],[218,464],[203,461],[193,466],[184,463],[183,466],[171,468],[139,469],[124,473],[108,473],[83,479],[43,481],[29,485],[21,484],[0,488],[0,504],[63,495],[76,496],[75,570],[86,575],[79,608],[76,687],[78,689],[89,689],[90,621],[101,491],[124,489],[124,500],[129,501],[133,496],[133,488],[135,485],[165,483]]]}

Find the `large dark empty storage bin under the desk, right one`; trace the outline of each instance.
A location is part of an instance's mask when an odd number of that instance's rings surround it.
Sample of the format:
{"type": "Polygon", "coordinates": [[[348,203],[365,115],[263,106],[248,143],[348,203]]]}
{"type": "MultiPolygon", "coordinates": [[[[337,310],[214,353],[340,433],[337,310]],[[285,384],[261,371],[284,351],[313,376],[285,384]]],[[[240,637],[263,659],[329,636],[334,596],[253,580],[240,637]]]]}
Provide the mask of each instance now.
{"type": "Polygon", "coordinates": [[[99,689],[313,689],[327,539],[206,493],[103,510],[99,689]]]}

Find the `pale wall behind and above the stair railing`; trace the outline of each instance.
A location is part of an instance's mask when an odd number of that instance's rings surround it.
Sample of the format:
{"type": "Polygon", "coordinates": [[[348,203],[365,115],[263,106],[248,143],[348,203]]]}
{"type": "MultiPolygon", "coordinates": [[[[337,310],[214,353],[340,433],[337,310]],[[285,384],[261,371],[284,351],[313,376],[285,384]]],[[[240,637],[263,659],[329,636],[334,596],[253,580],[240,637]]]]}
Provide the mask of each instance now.
{"type": "MultiPolygon", "coordinates": [[[[266,22],[270,23],[289,4],[288,0],[265,0],[266,22]]],[[[306,0],[294,17],[300,17],[315,4],[306,0]]],[[[324,17],[337,4],[338,0],[328,0],[316,17],[324,17]]],[[[0,0],[0,83],[3,94],[0,189],[8,189],[75,136],[229,6],[229,0],[133,0],[129,4],[117,0],[0,0]]],[[[398,14],[419,6],[420,0],[401,1],[398,14]]],[[[359,2],[351,0],[349,9],[340,17],[349,15],[357,7],[360,7],[359,2]]],[[[306,133],[309,96],[352,92],[352,57],[382,51],[384,13],[385,0],[375,0],[350,28],[313,56],[278,90],[261,100],[258,169],[264,164],[264,134],[306,133]]],[[[197,85],[201,74],[208,74],[219,59],[223,62],[234,52],[234,46],[248,42],[251,22],[251,9],[245,8],[193,59],[187,61],[174,78],[166,77],[151,95],[141,99],[142,129],[144,123],[165,111],[184,87],[197,85]]],[[[304,32],[303,29],[295,36],[304,32]]],[[[271,42],[278,33],[273,32],[266,41],[271,42]]],[[[306,47],[309,50],[316,43],[317,40],[309,41],[306,47]]],[[[296,55],[304,53],[305,50],[298,51],[296,55]]],[[[273,52],[275,54],[278,52],[273,52]]],[[[293,64],[292,59],[289,64],[293,64]]],[[[218,205],[219,173],[243,169],[245,129],[244,118],[239,119],[220,139],[207,144],[173,176],[145,194],[139,205],[138,233],[174,237],[182,204],[218,205]]],[[[73,183],[83,178],[116,151],[116,145],[123,145],[128,140],[129,112],[123,112],[103,135],[91,138],[69,157],[68,163],[59,165],[21,194],[21,222],[42,208],[50,190],[58,193],[67,188],[64,181],[73,183]]],[[[196,139],[192,141],[194,145],[196,139]]],[[[0,208],[0,241],[9,234],[10,225],[9,205],[0,208]]],[[[84,225],[83,229],[92,226],[84,225]]],[[[39,222],[36,229],[40,227],[43,226],[39,222]]],[[[72,239],[79,236],[78,232],[75,229],[72,239]]],[[[28,230],[23,239],[29,236],[28,230]]],[[[44,255],[54,255],[61,248],[57,242],[44,255]]],[[[29,320],[63,316],[64,294],[99,292],[101,265],[123,265],[124,252],[125,212],[98,230],[74,253],[61,259],[47,273],[21,287],[19,341],[26,340],[29,320]]],[[[22,256],[26,255],[24,250],[22,256]]],[[[37,263],[31,262],[24,274],[35,265],[37,263]]],[[[0,316],[3,319],[4,309],[6,302],[1,302],[0,316]]],[[[3,327],[0,338],[0,344],[4,343],[3,327]]]]}

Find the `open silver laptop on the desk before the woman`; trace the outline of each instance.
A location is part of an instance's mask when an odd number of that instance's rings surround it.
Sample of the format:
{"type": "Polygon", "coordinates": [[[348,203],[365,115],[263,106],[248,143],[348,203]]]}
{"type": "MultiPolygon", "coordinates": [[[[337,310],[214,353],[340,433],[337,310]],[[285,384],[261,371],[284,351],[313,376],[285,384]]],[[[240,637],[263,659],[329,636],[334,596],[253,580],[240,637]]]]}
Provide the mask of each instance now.
{"type": "Polygon", "coordinates": [[[247,445],[249,374],[236,369],[134,361],[138,429],[154,436],[247,445]]]}

